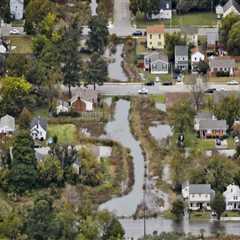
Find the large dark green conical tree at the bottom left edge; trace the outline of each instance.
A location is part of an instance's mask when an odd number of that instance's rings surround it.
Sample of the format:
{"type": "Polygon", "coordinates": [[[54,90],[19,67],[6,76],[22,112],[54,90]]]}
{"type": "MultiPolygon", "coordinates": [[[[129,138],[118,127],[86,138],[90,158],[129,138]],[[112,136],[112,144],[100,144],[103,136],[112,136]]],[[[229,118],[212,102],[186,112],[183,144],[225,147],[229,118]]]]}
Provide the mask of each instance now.
{"type": "Polygon", "coordinates": [[[24,222],[24,233],[32,240],[61,239],[61,222],[57,221],[50,196],[43,194],[35,199],[24,222]]]}

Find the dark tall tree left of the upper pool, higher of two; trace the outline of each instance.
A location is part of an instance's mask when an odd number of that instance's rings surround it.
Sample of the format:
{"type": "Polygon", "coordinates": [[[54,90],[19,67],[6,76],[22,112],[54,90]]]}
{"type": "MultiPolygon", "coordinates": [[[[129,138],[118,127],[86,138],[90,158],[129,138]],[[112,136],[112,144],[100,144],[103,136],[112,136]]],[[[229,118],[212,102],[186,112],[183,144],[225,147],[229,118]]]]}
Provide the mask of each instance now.
{"type": "Polygon", "coordinates": [[[88,48],[92,52],[103,54],[109,37],[107,21],[101,16],[93,16],[89,21],[89,29],[88,48]]]}

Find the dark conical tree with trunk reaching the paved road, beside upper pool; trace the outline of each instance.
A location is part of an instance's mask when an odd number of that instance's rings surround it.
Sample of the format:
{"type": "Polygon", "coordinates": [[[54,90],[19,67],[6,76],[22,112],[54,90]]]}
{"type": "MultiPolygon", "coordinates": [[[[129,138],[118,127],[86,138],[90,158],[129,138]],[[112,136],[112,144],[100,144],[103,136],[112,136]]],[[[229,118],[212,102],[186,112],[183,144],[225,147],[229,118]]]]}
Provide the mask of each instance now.
{"type": "Polygon", "coordinates": [[[108,68],[106,61],[98,54],[94,53],[85,72],[86,84],[102,85],[108,80],[108,68]]]}

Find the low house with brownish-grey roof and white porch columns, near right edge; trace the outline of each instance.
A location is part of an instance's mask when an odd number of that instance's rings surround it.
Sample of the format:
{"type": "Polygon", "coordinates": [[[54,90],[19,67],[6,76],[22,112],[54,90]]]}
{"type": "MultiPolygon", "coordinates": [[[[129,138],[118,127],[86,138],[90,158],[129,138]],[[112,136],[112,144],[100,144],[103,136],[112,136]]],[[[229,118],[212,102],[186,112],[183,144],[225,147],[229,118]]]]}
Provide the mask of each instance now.
{"type": "Polygon", "coordinates": [[[230,57],[212,57],[209,59],[209,68],[211,74],[220,74],[233,76],[236,68],[235,59],[230,57]]]}

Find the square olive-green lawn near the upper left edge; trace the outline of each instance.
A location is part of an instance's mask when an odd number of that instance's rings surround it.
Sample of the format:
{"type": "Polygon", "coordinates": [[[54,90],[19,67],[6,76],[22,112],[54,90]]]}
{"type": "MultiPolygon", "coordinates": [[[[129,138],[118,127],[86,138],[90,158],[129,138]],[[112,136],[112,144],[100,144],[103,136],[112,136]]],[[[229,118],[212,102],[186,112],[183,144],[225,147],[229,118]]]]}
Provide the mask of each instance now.
{"type": "Polygon", "coordinates": [[[12,53],[17,54],[32,54],[32,38],[30,36],[9,36],[11,46],[16,47],[11,50],[12,53]]]}

